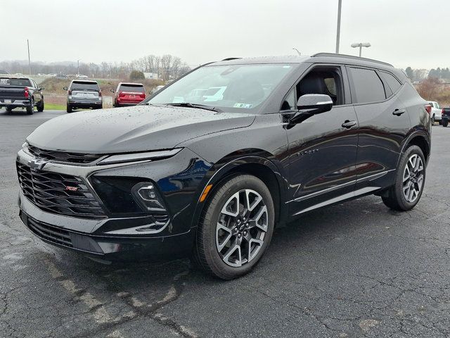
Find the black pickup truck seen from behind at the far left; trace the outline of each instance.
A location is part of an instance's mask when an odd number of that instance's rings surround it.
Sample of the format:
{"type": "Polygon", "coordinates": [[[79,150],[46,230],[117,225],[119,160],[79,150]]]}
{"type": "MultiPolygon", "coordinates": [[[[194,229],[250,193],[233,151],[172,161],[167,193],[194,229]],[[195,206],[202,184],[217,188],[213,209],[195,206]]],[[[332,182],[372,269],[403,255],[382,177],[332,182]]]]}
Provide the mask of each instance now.
{"type": "Polygon", "coordinates": [[[44,111],[43,90],[30,77],[0,77],[0,108],[25,108],[28,115],[34,113],[34,107],[44,111]]]}

